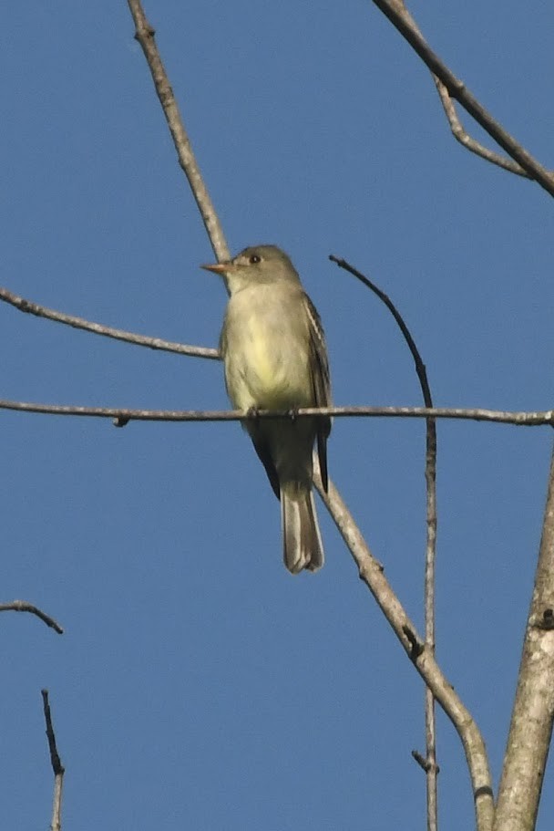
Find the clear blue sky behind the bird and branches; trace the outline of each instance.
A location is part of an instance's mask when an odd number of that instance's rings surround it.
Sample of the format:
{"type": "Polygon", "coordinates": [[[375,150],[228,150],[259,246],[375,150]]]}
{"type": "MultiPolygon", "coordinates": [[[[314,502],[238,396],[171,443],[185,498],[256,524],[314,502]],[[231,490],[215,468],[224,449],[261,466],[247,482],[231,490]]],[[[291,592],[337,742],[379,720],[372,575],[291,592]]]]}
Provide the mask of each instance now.
{"type": "MultiPolygon", "coordinates": [[[[410,8],[446,63],[551,167],[548,4],[410,8]]],[[[292,256],[327,333],[337,404],[420,403],[392,296],[437,405],[548,409],[551,245],[539,186],[450,137],[434,86],[371,3],[146,6],[233,251],[292,256]]],[[[71,314],[217,344],[226,296],[127,4],[4,10],[3,284],[71,314]]],[[[472,134],[470,119],[462,119],[472,134]]],[[[0,307],[2,397],[225,408],[221,366],[0,307]]],[[[279,508],[236,424],[3,412],[2,825],[46,827],[40,689],[67,766],[65,827],[425,826],[421,681],[319,513],[327,562],[282,566],[279,508]]],[[[539,545],[551,431],[438,428],[437,657],[498,782],[539,545]]],[[[425,426],[335,421],[330,473],[422,624],[425,426]]],[[[472,826],[439,714],[443,827],[472,826]]],[[[539,828],[554,810],[547,771],[539,828]]]]}

